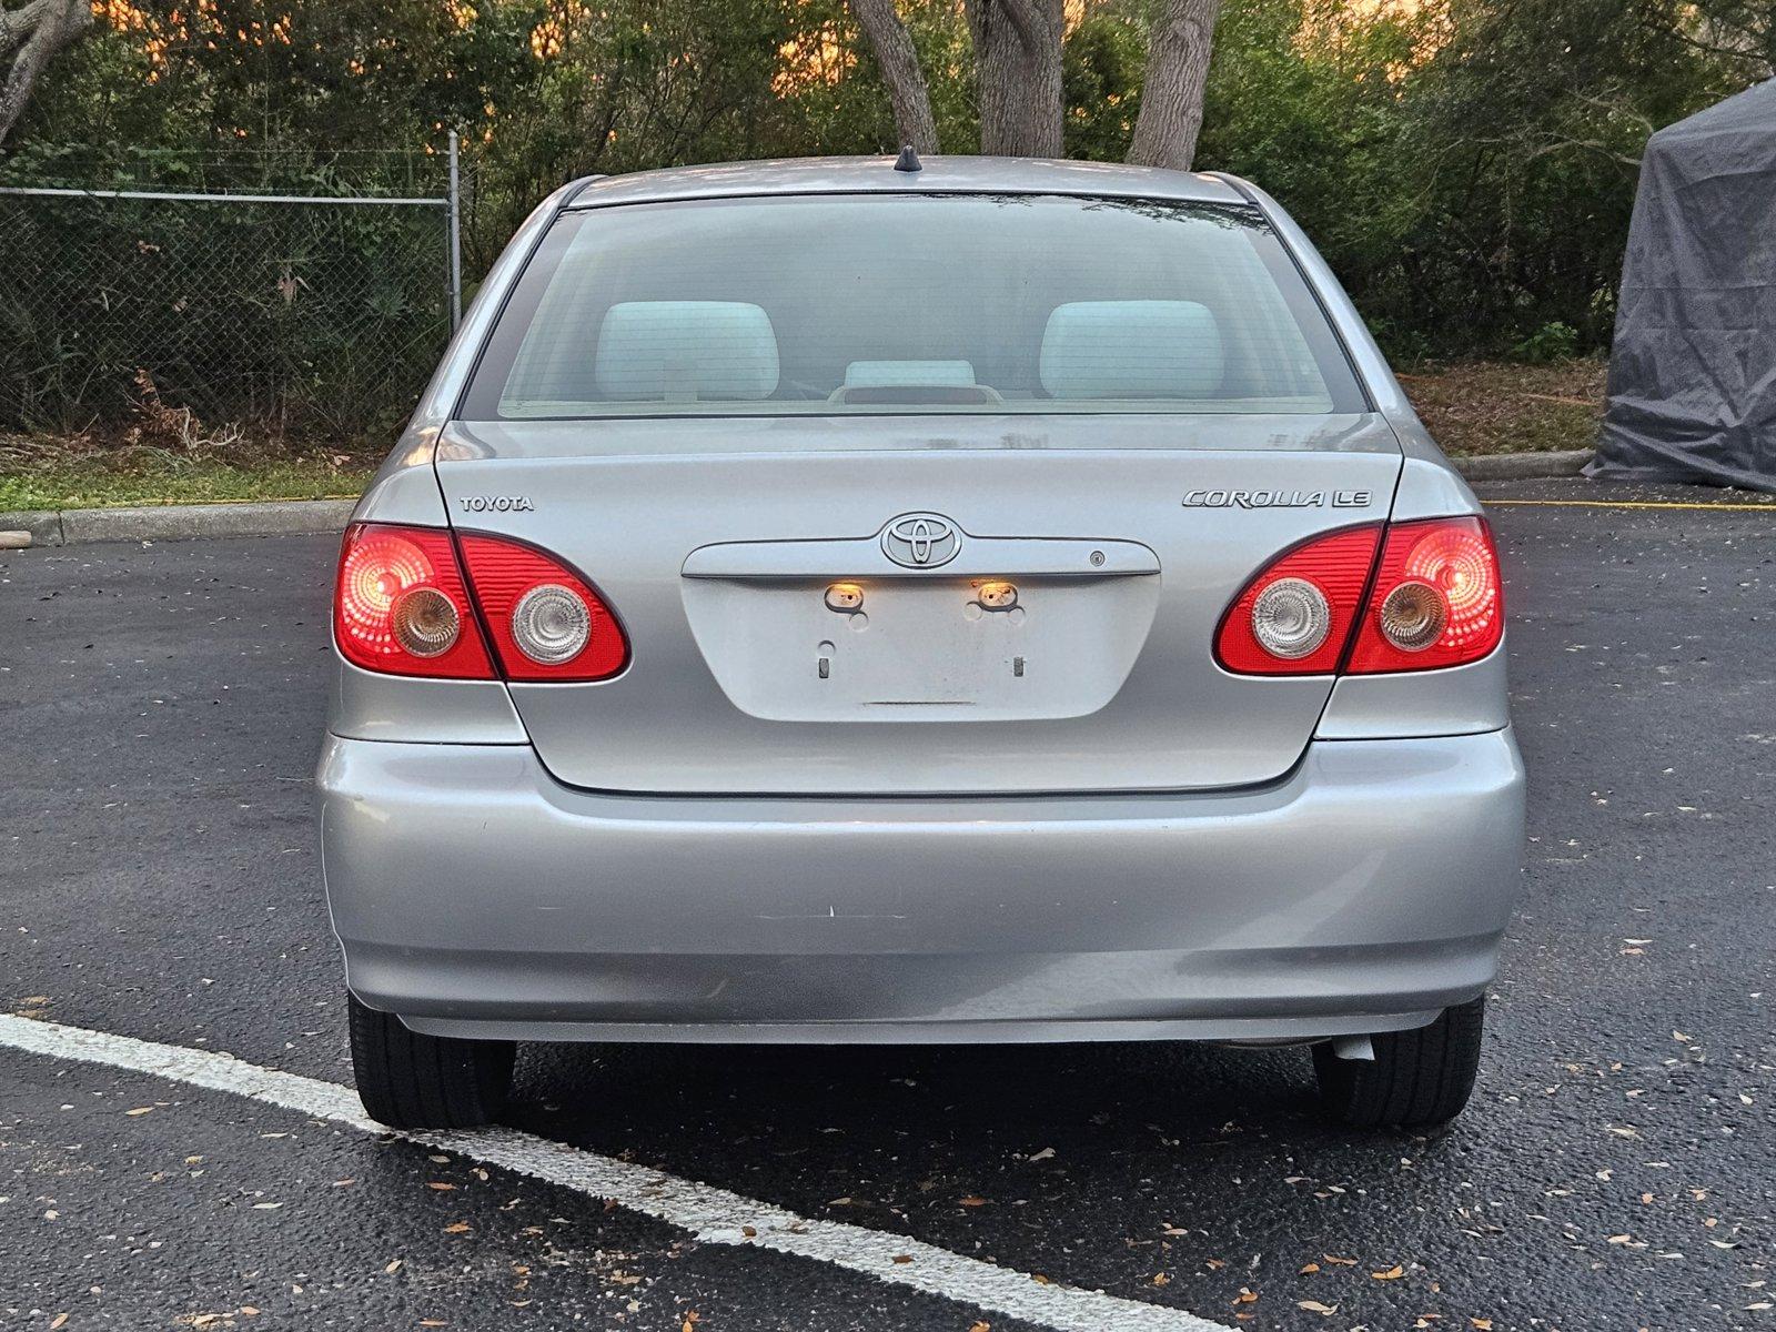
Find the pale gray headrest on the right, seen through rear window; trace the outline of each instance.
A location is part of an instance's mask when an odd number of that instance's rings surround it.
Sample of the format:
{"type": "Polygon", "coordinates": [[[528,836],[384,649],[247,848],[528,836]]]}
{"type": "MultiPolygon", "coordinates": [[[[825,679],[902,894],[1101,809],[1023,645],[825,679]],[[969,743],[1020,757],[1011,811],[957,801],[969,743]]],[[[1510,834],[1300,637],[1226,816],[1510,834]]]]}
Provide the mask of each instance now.
{"type": "Polygon", "coordinates": [[[1195,300],[1074,300],[1048,316],[1037,368],[1055,398],[1206,398],[1225,353],[1195,300]]]}

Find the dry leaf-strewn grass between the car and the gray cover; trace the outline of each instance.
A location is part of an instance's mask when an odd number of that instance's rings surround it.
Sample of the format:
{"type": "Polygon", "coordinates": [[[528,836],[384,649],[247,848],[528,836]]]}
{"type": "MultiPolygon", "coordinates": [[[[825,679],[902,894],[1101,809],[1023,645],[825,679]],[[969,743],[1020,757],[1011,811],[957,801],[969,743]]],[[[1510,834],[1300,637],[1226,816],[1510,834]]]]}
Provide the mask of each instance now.
{"type": "Polygon", "coordinates": [[[1446,453],[1588,449],[1604,416],[1607,362],[1517,366],[1471,361],[1399,375],[1446,453]]]}

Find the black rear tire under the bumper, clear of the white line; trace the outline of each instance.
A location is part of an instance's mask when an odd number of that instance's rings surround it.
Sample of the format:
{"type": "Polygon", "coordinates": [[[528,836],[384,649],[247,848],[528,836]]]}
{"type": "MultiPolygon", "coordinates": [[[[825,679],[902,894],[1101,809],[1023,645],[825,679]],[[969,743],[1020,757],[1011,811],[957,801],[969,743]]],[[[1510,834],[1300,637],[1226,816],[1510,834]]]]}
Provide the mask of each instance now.
{"type": "Polygon", "coordinates": [[[1352,1128],[1433,1128],[1462,1114],[1479,1071],[1487,996],[1444,1009],[1430,1027],[1369,1037],[1375,1058],[1314,1046],[1320,1099],[1352,1128]]]}

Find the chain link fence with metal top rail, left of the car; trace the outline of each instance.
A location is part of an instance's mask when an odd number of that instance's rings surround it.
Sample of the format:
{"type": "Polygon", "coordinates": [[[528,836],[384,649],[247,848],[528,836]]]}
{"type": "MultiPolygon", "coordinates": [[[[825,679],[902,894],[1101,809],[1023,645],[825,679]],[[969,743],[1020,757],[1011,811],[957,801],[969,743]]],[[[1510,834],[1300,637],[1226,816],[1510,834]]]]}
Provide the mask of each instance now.
{"type": "MultiPolygon", "coordinates": [[[[227,174],[233,186],[243,172],[227,174]]],[[[437,176],[437,194],[352,194],[314,170],[309,192],[7,172],[0,430],[186,410],[211,433],[387,437],[460,305],[455,153],[437,176]]]]}

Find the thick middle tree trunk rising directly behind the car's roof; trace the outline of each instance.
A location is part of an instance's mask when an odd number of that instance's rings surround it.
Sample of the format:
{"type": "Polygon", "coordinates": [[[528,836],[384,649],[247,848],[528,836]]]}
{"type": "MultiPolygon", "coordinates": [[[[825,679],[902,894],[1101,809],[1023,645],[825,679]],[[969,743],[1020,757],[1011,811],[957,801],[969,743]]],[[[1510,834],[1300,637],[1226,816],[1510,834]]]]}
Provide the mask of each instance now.
{"type": "Polygon", "coordinates": [[[1062,0],[964,0],[975,41],[980,151],[1058,158],[1062,0]]]}

